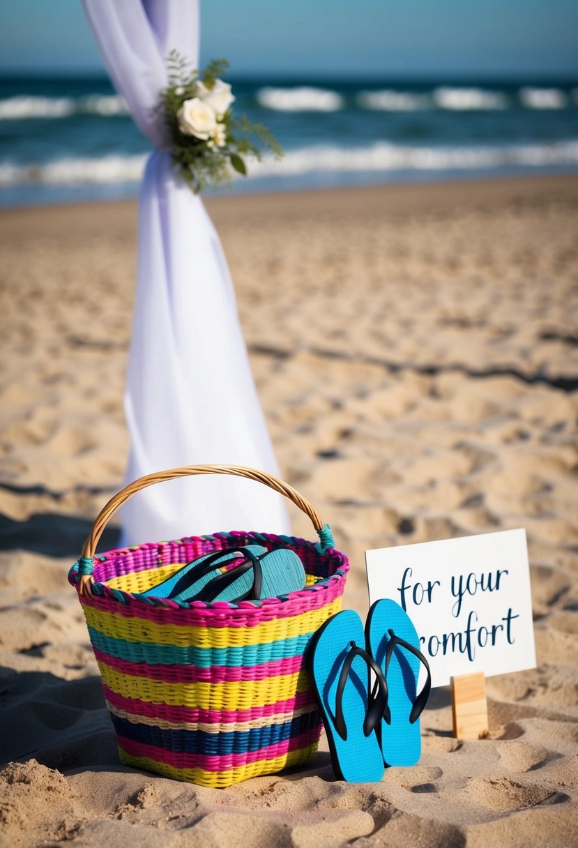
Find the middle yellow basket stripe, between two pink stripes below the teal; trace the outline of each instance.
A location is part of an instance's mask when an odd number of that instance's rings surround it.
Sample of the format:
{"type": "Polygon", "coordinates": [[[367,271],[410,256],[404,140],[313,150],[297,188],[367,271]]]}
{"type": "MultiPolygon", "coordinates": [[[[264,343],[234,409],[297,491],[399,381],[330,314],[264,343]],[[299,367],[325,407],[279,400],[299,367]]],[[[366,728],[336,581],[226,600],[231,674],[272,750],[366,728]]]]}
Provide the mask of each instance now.
{"type": "Polygon", "coordinates": [[[123,698],[137,698],[153,704],[197,707],[201,710],[248,710],[252,706],[288,700],[296,691],[305,692],[311,686],[308,675],[302,672],[232,683],[162,683],[160,680],[116,672],[104,662],[99,662],[98,667],[105,686],[123,698]]]}

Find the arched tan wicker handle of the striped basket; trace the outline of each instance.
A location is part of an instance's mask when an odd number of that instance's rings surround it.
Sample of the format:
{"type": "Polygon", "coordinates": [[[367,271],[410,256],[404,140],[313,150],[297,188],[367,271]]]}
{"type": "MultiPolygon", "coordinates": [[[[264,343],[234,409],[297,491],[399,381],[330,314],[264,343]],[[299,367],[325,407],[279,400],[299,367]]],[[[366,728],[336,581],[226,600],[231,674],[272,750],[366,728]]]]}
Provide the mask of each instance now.
{"type": "Polygon", "coordinates": [[[94,566],[94,555],[97,550],[97,544],[100,537],[103,535],[103,530],[107,526],[109,520],[116,510],[131,498],[133,494],[140,492],[142,488],[153,486],[154,483],[164,483],[167,480],[175,480],[178,477],[194,477],[197,474],[230,474],[234,477],[247,477],[248,480],[255,480],[257,483],[263,483],[269,486],[275,492],[284,494],[286,498],[303,510],[306,516],[311,519],[315,530],[317,531],[320,542],[320,550],[332,548],[335,544],[331,535],[331,529],[328,524],[321,522],[320,516],[314,510],[313,506],[299,494],[296,489],[292,488],[288,483],[284,483],[279,477],[274,477],[267,471],[258,471],[256,468],[248,468],[247,466],[181,466],[180,468],[170,468],[169,471],[156,471],[154,474],[147,474],[145,477],[139,477],[134,483],[129,483],[118,494],[108,501],[108,504],[103,506],[103,509],[97,516],[96,521],[92,525],[92,531],[86,542],[82,546],[81,559],[79,560],[79,575],[80,588],[79,594],[92,594],[91,584],[94,582],[92,578],[92,568],[94,566]]]}

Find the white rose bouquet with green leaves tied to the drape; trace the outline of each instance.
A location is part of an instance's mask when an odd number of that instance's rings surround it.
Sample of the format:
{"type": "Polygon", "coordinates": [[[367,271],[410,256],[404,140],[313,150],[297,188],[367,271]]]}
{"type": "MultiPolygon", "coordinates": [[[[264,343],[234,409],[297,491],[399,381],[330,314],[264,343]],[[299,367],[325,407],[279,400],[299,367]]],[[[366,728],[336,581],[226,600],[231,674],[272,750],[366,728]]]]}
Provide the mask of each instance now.
{"type": "Polygon", "coordinates": [[[263,148],[281,157],[275,137],[261,124],[232,113],[235,98],[220,79],[229,63],[214,59],[202,75],[176,51],[169,54],[169,85],[159,109],[170,131],[172,160],[193,192],[231,181],[233,170],[247,176],[245,160],[260,159],[263,148]]]}

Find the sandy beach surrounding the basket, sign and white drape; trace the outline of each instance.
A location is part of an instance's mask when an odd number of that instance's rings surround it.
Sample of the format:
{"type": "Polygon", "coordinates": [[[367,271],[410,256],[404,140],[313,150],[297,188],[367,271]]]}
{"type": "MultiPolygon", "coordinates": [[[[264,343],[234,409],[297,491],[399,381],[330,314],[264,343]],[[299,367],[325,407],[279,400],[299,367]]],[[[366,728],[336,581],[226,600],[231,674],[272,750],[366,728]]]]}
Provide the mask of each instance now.
{"type": "Polygon", "coordinates": [[[380,784],[336,782],[325,737],[225,790],[120,766],[66,573],[125,470],[136,205],[3,211],[0,842],[578,845],[578,178],[207,205],[282,476],[352,561],[345,605],[367,611],[365,549],[525,527],[538,665],[488,678],[488,739],[453,739],[434,690],[419,765],[380,784]]]}

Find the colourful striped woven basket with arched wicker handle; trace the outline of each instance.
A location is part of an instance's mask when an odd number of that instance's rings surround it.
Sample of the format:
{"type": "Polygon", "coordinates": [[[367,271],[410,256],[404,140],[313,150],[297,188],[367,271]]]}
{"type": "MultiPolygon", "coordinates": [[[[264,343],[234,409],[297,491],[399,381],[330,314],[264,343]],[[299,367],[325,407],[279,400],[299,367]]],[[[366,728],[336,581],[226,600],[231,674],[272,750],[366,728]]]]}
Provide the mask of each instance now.
{"type": "Polygon", "coordinates": [[[331,530],[295,489],[243,466],[185,466],[142,477],[108,501],[69,572],[78,591],[120,761],[165,777],[224,787],[303,766],[314,757],[321,717],[303,666],[309,639],[339,611],[349,569],[331,530]],[[108,519],[153,483],[232,474],[286,495],[320,541],[270,533],[215,533],[95,556],[108,519]],[[141,593],[210,551],[261,544],[303,561],[305,589],[278,598],[190,603],[141,593]]]}

